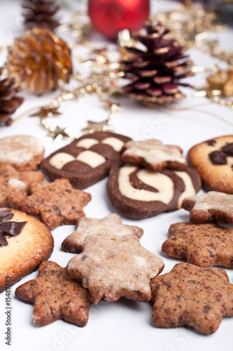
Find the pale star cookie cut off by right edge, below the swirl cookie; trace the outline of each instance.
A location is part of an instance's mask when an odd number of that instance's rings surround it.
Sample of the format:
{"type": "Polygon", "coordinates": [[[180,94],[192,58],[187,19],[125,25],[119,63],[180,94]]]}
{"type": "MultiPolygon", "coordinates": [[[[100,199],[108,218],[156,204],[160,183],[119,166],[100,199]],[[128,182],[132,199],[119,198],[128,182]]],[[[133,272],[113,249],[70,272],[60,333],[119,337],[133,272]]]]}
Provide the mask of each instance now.
{"type": "Polygon", "coordinates": [[[224,192],[186,197],[182,207],[190,211],[192,223],[233,223],[233,195],[224,192]]]}

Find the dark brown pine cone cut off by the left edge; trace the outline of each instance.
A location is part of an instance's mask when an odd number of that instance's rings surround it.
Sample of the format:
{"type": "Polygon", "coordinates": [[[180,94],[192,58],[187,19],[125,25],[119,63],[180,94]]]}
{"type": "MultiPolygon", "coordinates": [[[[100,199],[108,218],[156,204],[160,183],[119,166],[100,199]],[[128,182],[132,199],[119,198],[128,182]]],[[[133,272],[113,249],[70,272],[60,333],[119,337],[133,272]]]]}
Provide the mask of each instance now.
{"type": "MultiPolygon", "coordinates": [[[[2,68],[0,68],[0,75],[2,68]]],[[[15,96],[18,88],[15,87],[15,79],[6,78],[0,81],[0,124],[5,122],[10,124],[10,115],[17,110],[23,98],[15,96]]]]}

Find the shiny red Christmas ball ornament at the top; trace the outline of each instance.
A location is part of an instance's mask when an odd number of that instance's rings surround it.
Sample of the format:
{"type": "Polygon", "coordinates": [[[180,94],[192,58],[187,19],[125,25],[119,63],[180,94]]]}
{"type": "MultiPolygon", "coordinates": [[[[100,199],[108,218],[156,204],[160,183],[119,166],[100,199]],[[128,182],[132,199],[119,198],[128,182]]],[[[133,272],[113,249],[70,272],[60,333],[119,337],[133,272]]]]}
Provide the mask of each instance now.
{"type": "Polygon", "coordinates": [[[122,29],[141,29],[150,13],[150,0],[89,0],[88,13],[98,32],[115,39],[122,29]]]}

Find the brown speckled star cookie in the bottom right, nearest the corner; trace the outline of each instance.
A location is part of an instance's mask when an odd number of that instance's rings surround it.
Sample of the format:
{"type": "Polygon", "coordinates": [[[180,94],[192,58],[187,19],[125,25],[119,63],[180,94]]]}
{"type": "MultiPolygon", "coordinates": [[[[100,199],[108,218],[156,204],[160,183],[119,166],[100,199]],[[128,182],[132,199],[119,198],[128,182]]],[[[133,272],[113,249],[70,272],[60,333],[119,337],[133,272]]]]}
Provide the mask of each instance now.
{"type": "Polygon", "coordinates": [[[153,324],[159,328],[192,326],[214,333],[223,317],[233,315],[233,285],[225,270],[178,263],[150,282],[153,324]]]}

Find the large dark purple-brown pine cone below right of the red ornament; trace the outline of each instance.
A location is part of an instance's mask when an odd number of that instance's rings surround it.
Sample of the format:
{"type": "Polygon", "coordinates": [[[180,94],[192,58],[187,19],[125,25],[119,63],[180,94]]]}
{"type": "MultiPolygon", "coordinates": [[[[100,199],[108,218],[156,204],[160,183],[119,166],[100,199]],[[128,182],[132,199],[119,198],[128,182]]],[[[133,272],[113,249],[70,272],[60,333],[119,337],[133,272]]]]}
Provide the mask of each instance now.
{"type": "Polygon", "coordinates": [[[121,62],[125,78],[132,80],[124,87],[125,93],[149,107],[184,98],[178,85],[189,86],[180,79],[192,75],[192,62],[183,54],[183,46],[169,39],[169,30],[160,24],[153,27],[148,21],[145,29],[146,34],[139,32],[132,37],[145,50],[127,47],[129,56],[121,62]]]}

